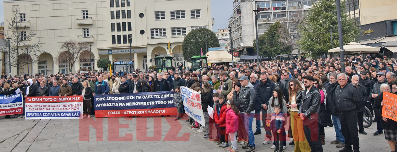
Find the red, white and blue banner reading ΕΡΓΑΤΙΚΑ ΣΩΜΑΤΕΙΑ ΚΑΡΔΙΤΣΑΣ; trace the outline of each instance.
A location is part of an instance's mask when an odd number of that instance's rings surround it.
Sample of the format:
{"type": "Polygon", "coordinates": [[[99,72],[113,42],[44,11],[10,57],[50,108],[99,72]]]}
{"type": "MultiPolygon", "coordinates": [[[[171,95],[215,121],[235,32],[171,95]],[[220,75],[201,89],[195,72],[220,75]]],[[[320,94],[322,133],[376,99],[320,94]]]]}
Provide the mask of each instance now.
{"type": "Polygon", "coordinates": [[[37,96],[25,100],[25,119],[82,119],[82,96],[37,96]]]}

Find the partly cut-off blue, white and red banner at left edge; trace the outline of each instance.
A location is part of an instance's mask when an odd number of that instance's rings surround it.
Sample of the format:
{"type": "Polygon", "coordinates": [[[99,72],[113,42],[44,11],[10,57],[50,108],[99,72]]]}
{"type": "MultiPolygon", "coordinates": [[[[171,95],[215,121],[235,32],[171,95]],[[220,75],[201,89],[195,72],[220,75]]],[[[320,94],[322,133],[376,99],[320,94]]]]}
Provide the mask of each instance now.
{"type": "Polygon", "coordinates": [[[22,114],[22,94],[0,95],[0,115],[22,114]]]}

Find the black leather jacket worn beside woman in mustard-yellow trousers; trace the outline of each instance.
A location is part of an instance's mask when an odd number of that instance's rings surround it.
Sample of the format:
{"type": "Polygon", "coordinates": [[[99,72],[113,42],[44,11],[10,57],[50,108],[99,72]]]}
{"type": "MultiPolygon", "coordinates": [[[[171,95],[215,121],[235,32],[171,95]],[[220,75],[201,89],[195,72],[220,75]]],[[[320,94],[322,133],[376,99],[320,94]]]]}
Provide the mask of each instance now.
{"type": "Polygon", "coordinates": [[[306,94],[307,89],[302,92],[301,106],[299,107],[299,114],[303,115],[309,119],[318,119],[318,113],[320,112],[321,94],[318,88],[312,86],[306,94]],[[317,115],[312,115],[317,114],[317,115]]]}

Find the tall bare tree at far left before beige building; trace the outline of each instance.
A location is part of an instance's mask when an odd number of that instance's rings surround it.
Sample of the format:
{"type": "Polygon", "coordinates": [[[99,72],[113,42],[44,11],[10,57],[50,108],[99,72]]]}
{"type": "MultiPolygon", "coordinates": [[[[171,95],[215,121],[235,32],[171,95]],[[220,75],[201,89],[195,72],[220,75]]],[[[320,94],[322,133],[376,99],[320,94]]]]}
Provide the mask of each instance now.
{"type": "MultiPolygon", "coordinates": [[[[11,66],[17,68],[18,75],[19,67],[25,65],[28,65],[27,74],[29,74],[29,63],[36,63],[39,60],[39,55],[44,52],[41,50],[40,39],[36,43],[32,43],[33,37],[37,34],[33,33],[33,30],[25,31],[27,27],[23,25],[23,22],[26,21],[25,17],[21,17],[19,14],[19,7],[13,6],[11,19],[7,19],[8,28],[5,37],[10,38],[11,66]]],[[[9,65],[9,62],[0,60],[9,65]]]]}

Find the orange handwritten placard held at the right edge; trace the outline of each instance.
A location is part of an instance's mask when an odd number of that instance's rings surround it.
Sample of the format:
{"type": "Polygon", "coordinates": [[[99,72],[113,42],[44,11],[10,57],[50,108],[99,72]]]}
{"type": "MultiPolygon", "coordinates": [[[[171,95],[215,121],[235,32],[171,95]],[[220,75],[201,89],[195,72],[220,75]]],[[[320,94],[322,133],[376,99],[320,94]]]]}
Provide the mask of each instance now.
{"type": "Polygon", "coordinates": [[[397,121],[397,95],[389,92],[383,92],[382,117],[397,121]]]}

